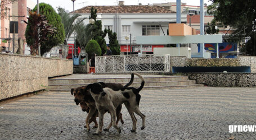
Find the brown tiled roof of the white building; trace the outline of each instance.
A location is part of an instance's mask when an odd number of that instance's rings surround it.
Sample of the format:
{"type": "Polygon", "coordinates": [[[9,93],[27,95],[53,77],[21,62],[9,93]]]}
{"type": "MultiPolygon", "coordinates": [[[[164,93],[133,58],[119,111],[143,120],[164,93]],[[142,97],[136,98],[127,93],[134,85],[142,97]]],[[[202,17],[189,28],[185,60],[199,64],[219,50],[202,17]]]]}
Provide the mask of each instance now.
{"type": "Polygon", "coordinates": [[[91,13],[91,7],[97,9],[97,13],[176,13],[161,6],[86,6],[75,10],[75,13],[91,13]]]}

